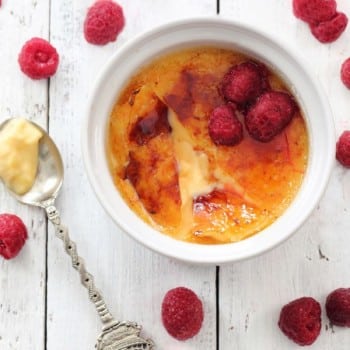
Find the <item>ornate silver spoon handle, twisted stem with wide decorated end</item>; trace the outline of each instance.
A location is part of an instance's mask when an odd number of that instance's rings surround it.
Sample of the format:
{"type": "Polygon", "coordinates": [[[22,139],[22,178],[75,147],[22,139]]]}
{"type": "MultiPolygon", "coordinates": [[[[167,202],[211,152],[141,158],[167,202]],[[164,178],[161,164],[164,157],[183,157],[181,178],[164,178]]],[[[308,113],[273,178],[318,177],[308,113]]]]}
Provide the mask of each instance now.
{"type": "Polygon", "coordinates": [[[76,244],[70,239],[68,229],[61,224],[61,218],[54,200],[41,203],[48,219],[55,227],[56,236],[63,241],[67,254],[71,257],[73,267],[79,272],[83,286],[89,292],[103,324],[102,334],[96,344],[97,350],[152,350],[154,344],[149,339],[140,337],[141,326],[134,322],[119,322],[114,319],[107,308],[101,293],[95,286],[93,276],[86,270],[84,260],[78,255],[76,244]]]}

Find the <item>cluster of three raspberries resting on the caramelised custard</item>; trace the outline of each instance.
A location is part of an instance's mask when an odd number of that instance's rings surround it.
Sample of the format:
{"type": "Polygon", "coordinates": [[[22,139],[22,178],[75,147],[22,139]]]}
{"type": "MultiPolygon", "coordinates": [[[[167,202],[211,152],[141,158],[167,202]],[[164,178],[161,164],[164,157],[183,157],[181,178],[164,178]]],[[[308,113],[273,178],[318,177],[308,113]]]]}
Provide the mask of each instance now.
{"type": "Polygon", "coordinates": [[[243,126],[237,111],[244,116],[249,135],[257,141],[269,142],[290,123],[297,104],[286,92],[273,91],[262,65],[246,61],[225,74],[219,91],[226,103],[215,108],[208,132],[216,145],[234,146],[243,139],[243,126]]]}

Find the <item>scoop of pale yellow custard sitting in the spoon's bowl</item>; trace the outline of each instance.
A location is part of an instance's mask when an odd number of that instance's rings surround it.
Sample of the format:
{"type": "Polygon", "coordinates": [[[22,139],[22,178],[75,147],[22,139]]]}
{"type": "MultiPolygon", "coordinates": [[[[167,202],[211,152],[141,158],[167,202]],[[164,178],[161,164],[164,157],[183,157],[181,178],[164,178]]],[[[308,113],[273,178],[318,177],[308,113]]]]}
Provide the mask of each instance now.
{"type": "Polygon", "coordinates": [[[29,121],[14,118],[0,130],[0,178],[22,195],[34,184],[42,132],[29,121]]]}

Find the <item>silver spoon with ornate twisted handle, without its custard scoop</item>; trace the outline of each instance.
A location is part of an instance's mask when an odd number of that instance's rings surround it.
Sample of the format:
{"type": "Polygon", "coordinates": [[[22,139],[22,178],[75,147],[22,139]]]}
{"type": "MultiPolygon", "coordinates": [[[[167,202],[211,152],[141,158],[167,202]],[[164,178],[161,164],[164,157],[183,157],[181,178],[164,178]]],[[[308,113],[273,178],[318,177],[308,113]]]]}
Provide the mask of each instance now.
{"type": "MultiPolygon", "coordinates": [[[[2,128],[12,119],[0,124],[2,128]]],[[[28,120],[29,121],[29,120],[28,120]]],[[[97,350],[152,350],[154,344],[150,339],[140,336],[141,326],[134,322],[117,321],[109,312],[101,293],[96,289],[93,276],[86,271],[84,260],[78,255],[76,245],[68,235],[68,230],[61,224],[61,218],[55,207],[55,200],[63,183],[63,163],[61,155],[48,133],[39,125],[29,121],[38,128],[43,136],[39,143],[39,164],[32,188],[24,195],[8,191],[21,203],[44,208],[48,219],[55,227],[55,233],[64,243],[64,248],[72,259],[73,267],[78,270],[83,286],[89,292],[90,300],[95,304],[103,328],[97,339],[97,350]]]]}

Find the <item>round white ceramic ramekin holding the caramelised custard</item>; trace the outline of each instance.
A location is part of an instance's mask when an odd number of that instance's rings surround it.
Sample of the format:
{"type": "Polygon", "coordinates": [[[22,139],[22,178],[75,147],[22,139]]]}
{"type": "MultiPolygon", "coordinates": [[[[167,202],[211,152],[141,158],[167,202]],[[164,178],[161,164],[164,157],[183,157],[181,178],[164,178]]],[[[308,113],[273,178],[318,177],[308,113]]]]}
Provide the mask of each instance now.
{"type": "Polygon", "coordinates": [[[320,84],[295,52],[251,26],[219,19],[173,22],[140,35],[120,48],[94,85],[82,128],[83,159],[90,183],[112,219],[131,237],[166,256],[192,263],[233,262],[265,252],[290,237],[307,219],[327,186],[334,162],[334,125],[320,84]],[[121,89],[140,66],[171,50],[215,45],[243,51],[273,67],[290,84],[304,110],[309,162],[290,207],[272,225],[241,242],[202,245],[177,241],[142,221],[124,202],[108,168],[106,128],[121,89]]]}

